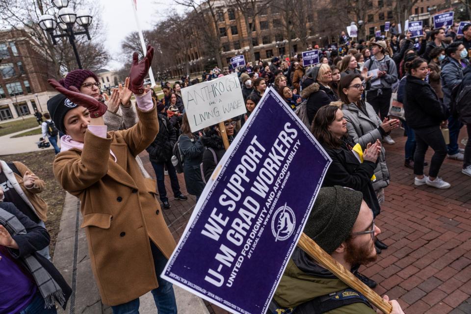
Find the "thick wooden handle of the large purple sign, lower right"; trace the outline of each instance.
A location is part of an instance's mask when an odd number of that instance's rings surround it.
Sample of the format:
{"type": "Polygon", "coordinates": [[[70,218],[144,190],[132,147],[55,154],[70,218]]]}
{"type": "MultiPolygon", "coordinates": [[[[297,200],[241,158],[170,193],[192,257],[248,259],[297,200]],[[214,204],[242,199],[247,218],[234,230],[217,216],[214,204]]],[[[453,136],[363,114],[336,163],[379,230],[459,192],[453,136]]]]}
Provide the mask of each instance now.
{"type": "Polygon", "coordinates": [[[339,262],[334,260],[332,256],[327,254],[306,234],[302,234],[299,238],[298,246],[317,262],[321,263],[326,269],[330,270],[337,278],[347,284],[349,287],[362,293],[369,302],[385,314],[392,311],[391,304],[385,302],[378,293],[362,283],[351,271],[348,271],[339,262]]]}

